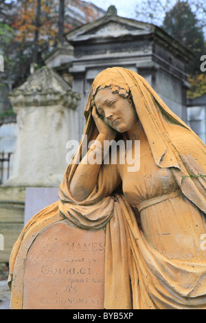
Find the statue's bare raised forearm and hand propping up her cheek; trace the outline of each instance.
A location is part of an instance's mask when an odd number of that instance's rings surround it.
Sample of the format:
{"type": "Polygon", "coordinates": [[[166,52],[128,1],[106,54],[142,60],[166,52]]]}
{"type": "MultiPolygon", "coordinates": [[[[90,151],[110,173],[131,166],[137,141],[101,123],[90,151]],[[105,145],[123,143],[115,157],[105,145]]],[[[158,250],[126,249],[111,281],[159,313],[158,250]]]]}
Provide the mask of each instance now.
{"type": "MultiPolygon", "coordinates": [[[[87,155],[82,158],[82,161],[76,168],[76,172],[71,179],[70,192],[73,198],[77,201],[83,201],[84,199],[87,199],[87,197],[89,197],[89,194],[91,194],[91,192],[95,188],[98,181],[100,167],[102,166],[102,161],[104,159],[104,154],[106,153],[104,140],[114,140],[117,133],[114,129],[107,126],[100,119],[95,107],[93,107],[92,115],[100,134],[93,143],[92,148],[89,148],[87,155]],[[94,155],[93,147],[96,147],[95,154],[98,155],[98,163],[95,164],[91,164],[91,160],[93,160],[94,155]]],[[[107,145],[106,148],[108,149],[109,146],[107,145]]],[[[108,168],[109,165],[105,166],[107,166],[108,168]]]]}

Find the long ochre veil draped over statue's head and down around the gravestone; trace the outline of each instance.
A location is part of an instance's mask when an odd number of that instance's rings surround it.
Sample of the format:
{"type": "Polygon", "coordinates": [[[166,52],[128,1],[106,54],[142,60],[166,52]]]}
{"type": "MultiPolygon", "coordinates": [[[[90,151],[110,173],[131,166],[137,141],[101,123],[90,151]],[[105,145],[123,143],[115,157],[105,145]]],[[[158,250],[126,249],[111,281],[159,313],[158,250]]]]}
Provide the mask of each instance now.
{"type": "MultiPolygon", "coordinates": [[[[134,71],[113,67],[102,71],[93,81],[84,110],[83,135],[87,135],[87,142],[98,136],[91,115],[93,96],[100,86],[115,85],[130,91],[155,164],[170,168],[181,192],[206,214],[205,144],[134,71]]],[[[76,161],[85,153],[87,149],[82,137],[60,184],[60,201],[38,212],[14,245],[10,258],[10,284],[21,245],[24,241],[32,241],[34,227],[43,228],[48,223],[67,218],[72,225],[85,230],[106,230],[105,309],[206,308],[206,263],[190,265],[171,260],[153,249],[138,225],[138,214],[121,189],[109,193],[115,174],[105,174],[100,168],[97,186],[89,197],[81,202],[73,199],[69,186],[78,167],[76,161]],[[179,281],[174,275],[176,270],[179,270],[179,281]]]]}

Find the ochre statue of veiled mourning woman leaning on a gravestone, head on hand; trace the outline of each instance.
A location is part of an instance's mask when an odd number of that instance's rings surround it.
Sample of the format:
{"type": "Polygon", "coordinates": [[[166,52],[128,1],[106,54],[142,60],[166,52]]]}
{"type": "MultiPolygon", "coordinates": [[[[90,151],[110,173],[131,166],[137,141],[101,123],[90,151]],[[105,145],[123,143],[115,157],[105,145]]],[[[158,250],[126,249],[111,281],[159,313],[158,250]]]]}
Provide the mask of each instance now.
{"type": "Polygon", "coordinates": [[[32,241],[67,219],[82,230],[105,230],[104,309],[206,309],[205,144],[144,78],[122,67],[98,74],[84,115],[92,144],[85,150],[80,142],[60,200],[38,212],[14,245],[11,304],[23,298],[17,268],[32,241]],[[140,142],[137,169],[128,171],[128,158],[120,162],[120,148],[117,163],[104,163],[104,143],[111,161],[110,143],[118,140],[130,143],[124,154],[131,156],[140,142]],[[89,162],[94,153],[101,162],[89,162]]]}

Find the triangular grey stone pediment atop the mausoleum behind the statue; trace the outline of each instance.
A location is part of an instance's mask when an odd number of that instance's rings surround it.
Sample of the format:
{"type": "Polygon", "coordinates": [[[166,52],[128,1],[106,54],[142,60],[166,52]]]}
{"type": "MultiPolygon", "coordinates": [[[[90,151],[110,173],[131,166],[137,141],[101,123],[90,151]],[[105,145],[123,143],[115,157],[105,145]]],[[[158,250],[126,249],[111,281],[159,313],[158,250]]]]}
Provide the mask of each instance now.
{"type": "Polygon", "coordinates": [[[91,38],[116,38],[126,35],[148,34],[154,30],[149,23],[120,16],[104,16],[96,21],[82,25],[67,34],[68,41],[87,41],[91,38]]]}

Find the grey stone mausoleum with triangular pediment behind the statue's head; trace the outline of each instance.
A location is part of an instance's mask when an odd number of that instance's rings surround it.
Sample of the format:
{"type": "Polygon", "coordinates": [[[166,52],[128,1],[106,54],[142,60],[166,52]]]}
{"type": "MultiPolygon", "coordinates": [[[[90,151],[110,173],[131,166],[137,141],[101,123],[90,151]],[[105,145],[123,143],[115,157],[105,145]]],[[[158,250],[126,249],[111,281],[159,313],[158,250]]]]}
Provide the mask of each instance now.
{"type": "Polygon", "coordinates": [[[46,63],[65,77],[62,66],[70,65],[67,77],[73,78],[73,91],[82,93],[78,105],[79,139],[91,83],[100,71],[113,66],[122,66],[143,76],[168,107],[187,122],[187,64],[193,57],[192,52],[161,28],[108,10],[102,18],[72,30],[66,38],[70,44],[68,52],[58,48],[46,63]],[[62,64],[58,65],[60,61],[62,64]]]}

